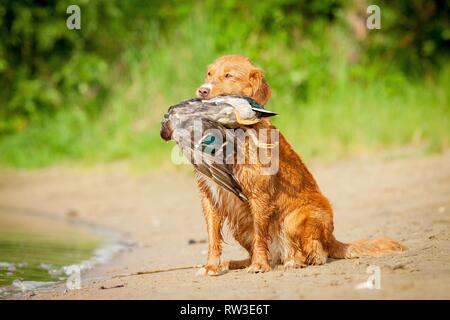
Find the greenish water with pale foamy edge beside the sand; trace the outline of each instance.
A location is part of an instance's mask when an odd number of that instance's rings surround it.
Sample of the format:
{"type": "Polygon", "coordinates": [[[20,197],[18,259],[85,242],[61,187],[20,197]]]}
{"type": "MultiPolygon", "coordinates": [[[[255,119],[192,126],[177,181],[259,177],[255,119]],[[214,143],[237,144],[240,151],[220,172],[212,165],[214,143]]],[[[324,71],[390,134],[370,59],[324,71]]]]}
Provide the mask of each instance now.
{"type": "Polygon", "coordinates": [[[120,236],[89,225],[36,214],[0,211],[0,299],[48,289],[109,261],[120,236]]]}

